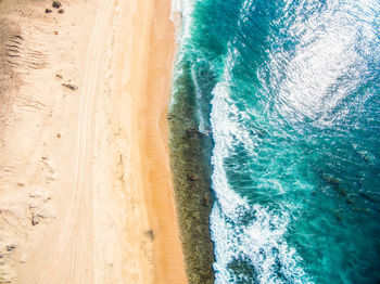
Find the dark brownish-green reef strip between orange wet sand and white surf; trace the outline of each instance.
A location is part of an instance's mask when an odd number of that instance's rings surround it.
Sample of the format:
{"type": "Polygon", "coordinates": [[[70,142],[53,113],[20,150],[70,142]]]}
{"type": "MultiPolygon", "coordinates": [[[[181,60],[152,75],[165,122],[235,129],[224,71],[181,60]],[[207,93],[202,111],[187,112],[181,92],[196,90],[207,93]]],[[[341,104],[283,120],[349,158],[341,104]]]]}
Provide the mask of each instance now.
{"type": "Polygon", "coordinates": [[[199,132],[197,98],[189,64],[177,63],[174,103],[169,109],[169,146],[181,241],[190,284],[214,283],[210,235],[212,140],[199,132]],[[178,73],[177,73],[178,74],[178,73]]]}

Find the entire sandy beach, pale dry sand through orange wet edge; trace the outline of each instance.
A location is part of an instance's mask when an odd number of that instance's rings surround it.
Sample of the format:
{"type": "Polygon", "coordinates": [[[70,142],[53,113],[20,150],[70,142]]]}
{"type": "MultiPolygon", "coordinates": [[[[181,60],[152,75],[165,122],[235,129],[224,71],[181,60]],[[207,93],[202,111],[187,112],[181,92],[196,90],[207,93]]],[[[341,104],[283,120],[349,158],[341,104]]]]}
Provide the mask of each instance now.
{"type": "Polygon", "coordinates": [[[0,0],[0,283],[186,283],[170,2],[61,2],[0,0]]]}

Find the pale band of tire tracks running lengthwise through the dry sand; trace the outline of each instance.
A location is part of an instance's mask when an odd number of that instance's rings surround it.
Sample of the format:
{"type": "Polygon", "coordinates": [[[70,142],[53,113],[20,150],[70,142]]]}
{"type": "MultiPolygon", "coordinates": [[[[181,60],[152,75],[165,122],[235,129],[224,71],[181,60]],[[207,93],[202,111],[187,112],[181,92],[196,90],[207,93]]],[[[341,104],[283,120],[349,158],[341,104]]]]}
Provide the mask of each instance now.
{"type": "Polygon", "coordinates": [[[93,195],[91,160],[94,130],[94,104],[98,82],[105,69],[104,49],[112,33],[115,1],[100,1],[88,46],[80,93],[74,184],[54,261],[41,283],[93,283],[93,195]],[[107,30],[109,29],[109,30],[107,30]]]}

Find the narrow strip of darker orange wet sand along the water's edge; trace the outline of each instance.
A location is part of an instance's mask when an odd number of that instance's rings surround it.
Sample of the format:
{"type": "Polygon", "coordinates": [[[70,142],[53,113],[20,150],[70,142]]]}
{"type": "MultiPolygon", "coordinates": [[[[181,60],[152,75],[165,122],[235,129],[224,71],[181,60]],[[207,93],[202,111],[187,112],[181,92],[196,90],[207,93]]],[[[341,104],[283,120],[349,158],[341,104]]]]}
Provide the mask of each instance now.
{"type": "Polygon", "coordinates": [[[156,2],[150,43],[144,149],[150,182],[148,202],[153,209],[151,218],[159,238],[155,244],[155,251],[159,251],[155,263],[160,271],[157,274],[162,275],[154,283],[175,284],[187,283],[187,274],[169,166],[167,115],[176,52],[175,26],[169,18],[170,12],[170,0],[165,4],[156,2]],[[152,47],[155,47],[154,50],[152,47]]]}

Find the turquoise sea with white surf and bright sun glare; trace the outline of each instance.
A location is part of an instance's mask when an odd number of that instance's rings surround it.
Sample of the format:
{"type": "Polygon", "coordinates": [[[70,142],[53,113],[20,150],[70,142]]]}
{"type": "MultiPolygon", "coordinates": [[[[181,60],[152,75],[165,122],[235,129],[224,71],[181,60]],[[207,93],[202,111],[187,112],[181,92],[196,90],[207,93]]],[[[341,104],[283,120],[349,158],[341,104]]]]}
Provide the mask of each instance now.
{"type": "Polygon", "coordinates": [[[380,2],[181,4],[215,283],[379,283],[380,2]]]}

